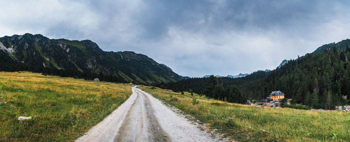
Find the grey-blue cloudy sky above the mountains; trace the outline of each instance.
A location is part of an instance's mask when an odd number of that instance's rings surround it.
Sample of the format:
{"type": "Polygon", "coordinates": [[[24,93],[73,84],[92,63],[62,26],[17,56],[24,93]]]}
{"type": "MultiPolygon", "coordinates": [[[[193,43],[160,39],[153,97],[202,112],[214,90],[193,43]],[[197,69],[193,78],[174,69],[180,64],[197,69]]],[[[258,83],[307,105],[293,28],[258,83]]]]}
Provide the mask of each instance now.
{"type": "Polygon", "coordinates": [[[184,76],[274,69],[350,38],[349,0],[0,0],[0,36],[90,39],[184,76]]]}

